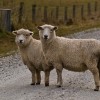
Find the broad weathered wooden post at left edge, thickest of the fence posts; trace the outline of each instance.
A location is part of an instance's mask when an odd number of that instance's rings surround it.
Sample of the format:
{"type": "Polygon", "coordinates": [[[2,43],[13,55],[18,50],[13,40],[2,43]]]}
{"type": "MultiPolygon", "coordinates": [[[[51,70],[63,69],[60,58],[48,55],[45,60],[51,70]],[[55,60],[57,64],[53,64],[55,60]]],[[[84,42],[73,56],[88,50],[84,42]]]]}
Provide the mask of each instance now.
{"type": "Polygon", "coordinates": [[[11,31],[11,9],[0,9],[0,29],[11,31]]]}

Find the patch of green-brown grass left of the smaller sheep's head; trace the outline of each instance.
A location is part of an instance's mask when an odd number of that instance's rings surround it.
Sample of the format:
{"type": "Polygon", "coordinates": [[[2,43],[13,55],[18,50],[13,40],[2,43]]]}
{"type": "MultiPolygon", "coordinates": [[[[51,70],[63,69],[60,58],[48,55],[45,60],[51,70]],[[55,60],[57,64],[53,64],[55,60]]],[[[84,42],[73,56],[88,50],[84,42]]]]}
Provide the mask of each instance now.
{"type": "Polygon", "coordinates": [[[7,32],[0,33],[0,57],[13,53],[16,50],[17,46],[13,35],[7,32]]]}

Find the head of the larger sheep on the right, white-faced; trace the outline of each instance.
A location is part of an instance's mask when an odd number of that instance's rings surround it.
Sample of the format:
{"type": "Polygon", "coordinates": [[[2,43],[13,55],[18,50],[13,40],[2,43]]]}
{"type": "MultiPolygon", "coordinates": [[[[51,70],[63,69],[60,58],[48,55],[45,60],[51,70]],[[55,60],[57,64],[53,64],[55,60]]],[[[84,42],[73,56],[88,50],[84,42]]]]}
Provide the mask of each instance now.
{"type": "Polygon", "coordinates": [[[49,40],[55,36],[55,30],[57,30],[57,26],[52,25],[42,25],[37,27],[39,30],[40,39],[49,40]]]}

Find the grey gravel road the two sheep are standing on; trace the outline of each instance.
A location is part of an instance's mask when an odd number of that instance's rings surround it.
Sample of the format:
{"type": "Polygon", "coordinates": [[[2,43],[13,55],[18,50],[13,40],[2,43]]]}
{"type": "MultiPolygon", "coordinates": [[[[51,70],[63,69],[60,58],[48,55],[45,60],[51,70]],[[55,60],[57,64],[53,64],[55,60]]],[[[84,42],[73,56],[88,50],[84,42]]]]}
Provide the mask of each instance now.
{"type": "MultiPolygon", "coordinates": [[[[100,39],[100,29],[91,29],[69,38],[100,39]]],[[[63,70],[63,87],[56,87],[56,71],[51,71],[50,86],[42,83],[31,86],[31,73],[22,63],[19,53],[0,58],[0,100],[100,100],[100,91],[95,92],[91,72],[63,70]]]]}

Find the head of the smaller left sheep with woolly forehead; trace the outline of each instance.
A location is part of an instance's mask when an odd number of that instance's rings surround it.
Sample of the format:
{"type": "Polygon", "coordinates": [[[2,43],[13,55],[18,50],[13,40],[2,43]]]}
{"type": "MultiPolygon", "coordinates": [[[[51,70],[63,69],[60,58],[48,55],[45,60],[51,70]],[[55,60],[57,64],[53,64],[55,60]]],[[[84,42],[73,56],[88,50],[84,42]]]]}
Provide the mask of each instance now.
{"type": "Polygon", "coordinates": [[[19,46],[26,46],[30,42],[30,37],[33,34],[33,32],[23,28],[13,31],[12,33],[16,35],[15,42],[19,46]]]}

